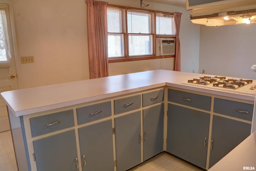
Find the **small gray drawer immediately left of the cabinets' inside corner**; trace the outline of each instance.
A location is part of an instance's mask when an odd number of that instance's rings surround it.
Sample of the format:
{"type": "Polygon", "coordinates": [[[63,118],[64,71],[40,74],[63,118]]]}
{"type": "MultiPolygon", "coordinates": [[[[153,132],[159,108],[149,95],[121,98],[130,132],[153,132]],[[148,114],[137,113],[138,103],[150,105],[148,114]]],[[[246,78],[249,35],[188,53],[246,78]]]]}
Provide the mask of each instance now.
{"type": "Polygon", "coordinates": [[[142,105],[148,106],[164,101],[164,89],[142,94],[142,105]]]}

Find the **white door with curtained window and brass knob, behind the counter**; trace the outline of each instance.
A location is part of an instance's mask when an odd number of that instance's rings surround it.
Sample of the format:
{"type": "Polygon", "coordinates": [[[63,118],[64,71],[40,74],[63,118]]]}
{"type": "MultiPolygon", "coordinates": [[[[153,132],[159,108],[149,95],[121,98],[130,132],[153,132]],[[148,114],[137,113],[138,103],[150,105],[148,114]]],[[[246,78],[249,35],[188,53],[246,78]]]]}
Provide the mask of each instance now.
{"type": "MultiPolygon", "coordinates": [[[[0,93],[18,89],[8,4],[0,4],[0,93]]],[[[10,129],[6,104],[0,98],[0,132],[10,129]]]]}

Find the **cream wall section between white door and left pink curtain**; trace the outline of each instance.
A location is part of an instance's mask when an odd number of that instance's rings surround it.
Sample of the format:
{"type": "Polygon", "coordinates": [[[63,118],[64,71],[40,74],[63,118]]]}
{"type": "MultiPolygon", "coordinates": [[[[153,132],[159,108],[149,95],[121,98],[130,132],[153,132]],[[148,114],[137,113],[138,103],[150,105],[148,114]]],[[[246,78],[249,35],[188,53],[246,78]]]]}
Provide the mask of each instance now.
{"type": "Polygon", "coordinates": [[[89,79],[84,0],[13,0],[19,88],[89,79]],[[21,56],[34,63],[21,64],[21,56]]]}

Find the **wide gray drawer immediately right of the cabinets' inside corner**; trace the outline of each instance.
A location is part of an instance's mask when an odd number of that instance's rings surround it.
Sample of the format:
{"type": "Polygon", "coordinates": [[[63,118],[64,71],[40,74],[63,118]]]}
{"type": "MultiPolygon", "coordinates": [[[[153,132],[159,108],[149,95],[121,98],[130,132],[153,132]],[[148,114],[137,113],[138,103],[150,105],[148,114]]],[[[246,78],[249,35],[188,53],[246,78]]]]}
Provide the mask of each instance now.
{"type": "Polygon", "coordinates": [[[196,107],[198,109],[211,110],[211,97],[168,89],[168,101],[196,107]]]}

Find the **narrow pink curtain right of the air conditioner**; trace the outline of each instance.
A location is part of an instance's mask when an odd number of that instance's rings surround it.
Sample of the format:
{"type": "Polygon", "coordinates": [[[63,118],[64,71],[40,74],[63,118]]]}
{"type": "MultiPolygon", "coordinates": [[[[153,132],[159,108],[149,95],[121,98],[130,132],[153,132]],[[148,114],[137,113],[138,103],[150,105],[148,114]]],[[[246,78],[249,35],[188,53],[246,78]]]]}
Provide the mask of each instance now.
{"type": "Polygon", "coordinates": [[[174,28],[176,30],[176,41],[175,41],[175,71],[180,71],[180,18],[182,13],[180,12],[174,12],[174,28]]]}

